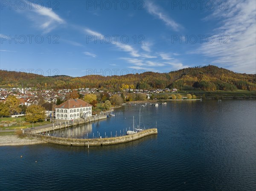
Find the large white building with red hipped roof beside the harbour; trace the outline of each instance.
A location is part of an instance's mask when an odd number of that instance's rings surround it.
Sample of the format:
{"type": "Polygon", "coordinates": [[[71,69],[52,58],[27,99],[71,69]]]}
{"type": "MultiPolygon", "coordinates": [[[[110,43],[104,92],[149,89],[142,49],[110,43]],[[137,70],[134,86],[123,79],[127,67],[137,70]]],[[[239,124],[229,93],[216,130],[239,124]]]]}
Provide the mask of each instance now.
{"type": "Polygon", "coordinates": [[[91,115],[92,105],[80,99],[67,100],[55,108],[55,118],[59,120],[73,120],[91,115]]]}

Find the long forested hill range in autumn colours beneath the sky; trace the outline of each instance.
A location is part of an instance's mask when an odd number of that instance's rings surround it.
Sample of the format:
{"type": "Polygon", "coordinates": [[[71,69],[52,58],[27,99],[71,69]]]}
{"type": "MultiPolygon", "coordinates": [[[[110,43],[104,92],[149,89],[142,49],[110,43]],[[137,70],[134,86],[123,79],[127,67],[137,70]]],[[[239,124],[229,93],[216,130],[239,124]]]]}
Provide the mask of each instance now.
{"type": "Polygon", "coordinates": [[[127,74],[123,76],[88,75],[84,77],[53,76],[46,77],[16,71],[0,70],[0,86],[35,87],[42,89],[76,89],[101,88],[109,91],[119,91],[120,87],[157,89],[178,88],[196,90],[256,90],[256,74],[239,74],[233,71],[218,68],[217,66],[204,66],[184,68],[169,73],[144,72],[142,74],[127,74]]]}

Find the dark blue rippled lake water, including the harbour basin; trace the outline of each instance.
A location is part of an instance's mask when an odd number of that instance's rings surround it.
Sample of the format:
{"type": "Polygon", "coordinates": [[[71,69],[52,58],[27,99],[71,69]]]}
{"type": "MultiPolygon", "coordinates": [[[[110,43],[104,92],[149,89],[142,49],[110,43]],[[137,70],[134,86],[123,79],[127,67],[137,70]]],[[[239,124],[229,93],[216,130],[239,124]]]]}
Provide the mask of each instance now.
{"type": "MultiPolygon", "coordinates": [[[[120,136],[138,111],[118,108],[115,117],[51,134],[120,136]]],[[[89,149],[0,147],[0,190],[255,191],[255,100],[169,101],[142,115],[145,128],[157,122],[157,135],[89,149]]]]}

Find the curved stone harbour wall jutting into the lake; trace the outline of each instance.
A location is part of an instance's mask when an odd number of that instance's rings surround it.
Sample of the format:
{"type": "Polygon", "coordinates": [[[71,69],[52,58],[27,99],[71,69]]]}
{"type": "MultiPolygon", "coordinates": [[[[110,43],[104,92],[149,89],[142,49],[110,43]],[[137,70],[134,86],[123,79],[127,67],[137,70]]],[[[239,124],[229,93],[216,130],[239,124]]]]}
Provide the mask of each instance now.
{"type": "Polygon", "coordinates": [[[64,137],[52,137],[41,134],[26,133],[28,137],[36,137],[42,141],[58,145],[76,145],[76,146],[99,146],[99,145],[114,145],[119,143],[125,143],[133,140],[140,139],[142,137],[157,134],[157,128],[146,129],[132,135],[125,135],[120,137],[109,137],[109,138],[96,138],[96,139],[74,139],[64,137]]]}

